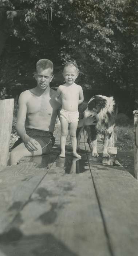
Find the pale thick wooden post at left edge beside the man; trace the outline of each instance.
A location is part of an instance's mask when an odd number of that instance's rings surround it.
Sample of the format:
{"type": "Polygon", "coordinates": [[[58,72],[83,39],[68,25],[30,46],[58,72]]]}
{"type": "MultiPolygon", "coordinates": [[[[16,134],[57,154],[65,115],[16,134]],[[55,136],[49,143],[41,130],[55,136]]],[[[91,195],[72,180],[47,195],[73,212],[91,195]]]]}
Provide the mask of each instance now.
{"type": "Polygon", "coordinates": [[[14,99],[0,100],[0,171],[7,166],[14,99]]]}

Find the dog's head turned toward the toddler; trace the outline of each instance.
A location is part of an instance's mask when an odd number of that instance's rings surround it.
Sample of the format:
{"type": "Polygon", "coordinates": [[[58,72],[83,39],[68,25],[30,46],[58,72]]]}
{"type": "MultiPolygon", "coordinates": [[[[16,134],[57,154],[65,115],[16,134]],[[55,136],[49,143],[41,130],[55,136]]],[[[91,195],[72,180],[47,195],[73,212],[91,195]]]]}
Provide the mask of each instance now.
{"type": "Polygon", "coordinates": [[[84,111],[84,117],[96,116],[101,109],[106,106],[106,99],[102,95],[96,95],[90,99],[88,102],[87,109],[84,111]]]}

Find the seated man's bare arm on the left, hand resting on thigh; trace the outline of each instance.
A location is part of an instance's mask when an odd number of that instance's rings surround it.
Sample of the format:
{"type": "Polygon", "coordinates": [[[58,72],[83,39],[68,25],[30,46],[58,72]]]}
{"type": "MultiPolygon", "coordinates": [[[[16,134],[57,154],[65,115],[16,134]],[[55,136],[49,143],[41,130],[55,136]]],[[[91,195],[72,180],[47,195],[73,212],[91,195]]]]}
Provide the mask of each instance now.
{"type": "Polygon", "coordinates": [[[38,142],[35,139],[30,138],[25,131],[25,120],[27,115],[27,99],[28,95],[26,92],[20,94],[19,97],[19,109],[17,113],[16,131],[20,138],[23,140],[25,147],[28,150],[37,150],[36,144],[38,142]]]}

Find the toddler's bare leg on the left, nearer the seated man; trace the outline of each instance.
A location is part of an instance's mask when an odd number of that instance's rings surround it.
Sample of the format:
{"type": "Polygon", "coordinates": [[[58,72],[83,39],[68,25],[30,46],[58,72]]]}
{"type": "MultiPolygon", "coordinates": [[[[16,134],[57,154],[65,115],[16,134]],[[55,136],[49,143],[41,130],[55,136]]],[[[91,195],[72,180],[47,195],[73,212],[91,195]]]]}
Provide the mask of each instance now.
{"type": "Polygon", "coordinates": [[[66,146],[66,138],[68,135],[68,122],[60,117],[61,123],[61,137],[60,137],[60,146],[61,146],[61,154],[60,157],[65,157],[65,146],[66,146]]]}

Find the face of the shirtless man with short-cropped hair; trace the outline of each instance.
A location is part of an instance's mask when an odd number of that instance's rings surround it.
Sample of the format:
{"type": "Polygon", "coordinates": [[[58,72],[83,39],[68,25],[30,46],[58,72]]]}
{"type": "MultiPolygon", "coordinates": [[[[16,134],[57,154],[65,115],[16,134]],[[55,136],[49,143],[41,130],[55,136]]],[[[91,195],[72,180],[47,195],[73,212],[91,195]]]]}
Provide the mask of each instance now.
{"type": "Polygon", "coordinates": [[[53,79],[52,70],[51,68],[47,69],[38,69],[38,71],[35,73],[35,79],[37,81],[37,86],[41,90],[46,90],[47,87],[50,85],[50,82],[53,79]]]}

